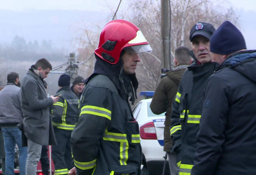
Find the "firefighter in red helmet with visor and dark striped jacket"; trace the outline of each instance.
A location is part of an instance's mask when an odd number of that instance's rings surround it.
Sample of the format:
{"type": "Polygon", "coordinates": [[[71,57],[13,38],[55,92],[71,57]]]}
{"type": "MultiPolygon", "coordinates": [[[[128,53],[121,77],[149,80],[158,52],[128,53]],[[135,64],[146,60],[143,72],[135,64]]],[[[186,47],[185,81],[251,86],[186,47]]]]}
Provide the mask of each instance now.
{"type": "Polygon", "coordinates": [[[140,174],[139,126],[128,99],[133,104],[137,98],[138,53],[151,51],[140,29],[129,21],[113,20],[103,28],[71,134],[76,174],[140,174]]]}

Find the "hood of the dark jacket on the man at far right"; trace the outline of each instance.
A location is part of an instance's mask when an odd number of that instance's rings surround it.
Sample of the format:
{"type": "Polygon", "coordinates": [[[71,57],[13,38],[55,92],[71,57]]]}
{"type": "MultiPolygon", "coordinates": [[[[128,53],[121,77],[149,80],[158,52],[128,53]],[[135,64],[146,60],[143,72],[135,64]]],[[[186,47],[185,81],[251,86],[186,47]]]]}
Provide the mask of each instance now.
{"type": "Polygon", "coordinates": [[[227,58],[221,67],[230,67],[256,83],[256,50],[237,52],[227,58]]]}

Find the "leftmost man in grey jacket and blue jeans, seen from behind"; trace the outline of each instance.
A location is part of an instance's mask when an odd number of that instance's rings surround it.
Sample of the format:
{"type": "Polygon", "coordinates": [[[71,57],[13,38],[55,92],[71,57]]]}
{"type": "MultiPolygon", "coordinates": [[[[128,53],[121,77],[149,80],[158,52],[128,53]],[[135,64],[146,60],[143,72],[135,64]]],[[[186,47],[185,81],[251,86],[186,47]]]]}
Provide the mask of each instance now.
{"type": "Polygon", "coordinates": [[[22,147],[22,133],[17,124],[23,121],[20,108],[20,81],[17,72],[7,75],[7,85],[0,92],[0,126],[4,136],[5,172],[14,175],[15,145],[19,147],[20,175],[25,175],[27,147],[22,147]]]}

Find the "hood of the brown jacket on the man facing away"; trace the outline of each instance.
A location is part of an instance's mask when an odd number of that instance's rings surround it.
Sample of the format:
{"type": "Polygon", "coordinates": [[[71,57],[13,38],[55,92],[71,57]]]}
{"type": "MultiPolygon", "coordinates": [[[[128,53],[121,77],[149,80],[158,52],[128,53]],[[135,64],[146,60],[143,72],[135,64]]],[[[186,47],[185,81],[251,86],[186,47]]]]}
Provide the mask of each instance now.
{"type": "Polygon", "coordinates": [[[167,77],[171,79],[174,83],[179,84],[180,79],[184,73],[184,71],[187,69],[188,65],[178,65],[173,70],[166,73],[167,77]]]}

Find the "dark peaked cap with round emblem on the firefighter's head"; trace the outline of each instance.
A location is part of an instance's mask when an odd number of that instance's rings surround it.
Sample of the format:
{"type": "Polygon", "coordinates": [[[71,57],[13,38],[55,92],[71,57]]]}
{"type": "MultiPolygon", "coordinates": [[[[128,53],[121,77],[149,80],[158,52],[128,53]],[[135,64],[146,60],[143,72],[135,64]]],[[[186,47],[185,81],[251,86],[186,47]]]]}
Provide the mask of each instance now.
{"type": "Polygon", "coordinates": [[[210,23],[199,22],[193,25],[190,31],[189,40],[192,41],[196,35],[203,35],[208,39],[211,39],[212,34],[215,32],[215,28],[210,23]]]}

